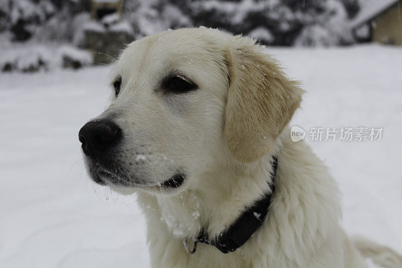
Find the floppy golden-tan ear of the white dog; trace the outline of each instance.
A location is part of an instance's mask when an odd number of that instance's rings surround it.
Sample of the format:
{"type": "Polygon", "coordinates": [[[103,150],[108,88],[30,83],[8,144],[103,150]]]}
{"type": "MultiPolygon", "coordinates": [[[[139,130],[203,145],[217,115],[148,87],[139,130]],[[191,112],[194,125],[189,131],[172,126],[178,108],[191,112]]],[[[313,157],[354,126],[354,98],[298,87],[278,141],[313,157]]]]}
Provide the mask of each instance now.
{"type": "Polygon", "coordinates": [[[226,143],[237,160],[252,162],[273,149],[299,107],[303,90],[251,39],[236,36],[226,60],[230,79],[226,143]]]}

